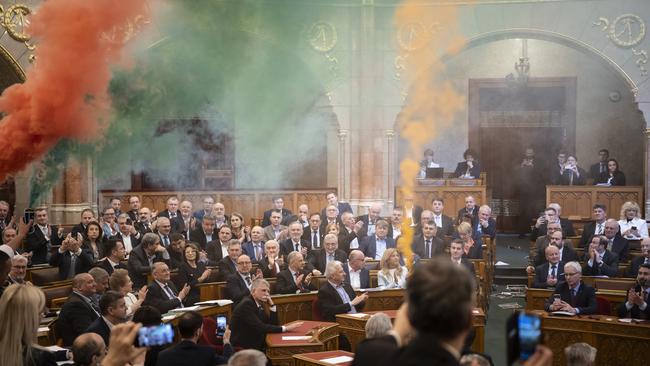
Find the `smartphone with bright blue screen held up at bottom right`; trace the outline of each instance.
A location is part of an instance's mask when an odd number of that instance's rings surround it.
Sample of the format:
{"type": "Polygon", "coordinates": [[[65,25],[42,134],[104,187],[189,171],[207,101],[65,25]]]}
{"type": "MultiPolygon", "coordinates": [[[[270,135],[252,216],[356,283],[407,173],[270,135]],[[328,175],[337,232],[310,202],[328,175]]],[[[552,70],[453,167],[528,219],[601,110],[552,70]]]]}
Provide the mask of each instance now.
{"type": "Polygon", "coordinates": [[[515,312],[507,322],[508,365],[528,360],[540,343],[542,321],[539,316],[515,312]]]}

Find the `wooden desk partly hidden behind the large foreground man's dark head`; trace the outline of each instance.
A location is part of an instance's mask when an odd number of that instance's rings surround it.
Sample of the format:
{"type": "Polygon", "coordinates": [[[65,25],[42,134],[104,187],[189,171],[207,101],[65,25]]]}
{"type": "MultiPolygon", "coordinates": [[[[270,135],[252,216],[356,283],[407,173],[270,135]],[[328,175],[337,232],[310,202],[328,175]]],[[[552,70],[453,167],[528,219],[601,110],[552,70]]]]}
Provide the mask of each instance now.
{"type": "MultiPolygon", "coordinates": [[[[397,314],[396,310],[384,310],[364,311],[363,313],[360,313],[365,314],[366,316],[364,317],[355,316],[354,314],[338,314],[336,316],[336,322],[339,323],[341,327],[341,334],[345,334],[352,345],[352,352],[355,352],[357,345],[362,340],[366,339],[365,328],[370,316],[380,312],[388,315],[393,321],[397,314]]],[[[485,344],[485,313],[482,309],[474,309],[472,311],[472,327],[476,332],[476,337],[472,343],[472,350],[482,353],[485,344]]]]}

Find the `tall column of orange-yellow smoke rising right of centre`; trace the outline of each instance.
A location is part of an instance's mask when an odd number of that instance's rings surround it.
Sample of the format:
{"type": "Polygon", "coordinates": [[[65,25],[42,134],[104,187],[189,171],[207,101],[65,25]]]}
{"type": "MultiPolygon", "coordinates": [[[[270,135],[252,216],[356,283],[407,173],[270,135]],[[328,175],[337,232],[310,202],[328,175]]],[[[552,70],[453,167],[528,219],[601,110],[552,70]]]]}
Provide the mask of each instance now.
{"type": "MultiPolygon", "coordinates": [[[[436,136],[436,131],[449,126],[454,115],[465,107],[464,96],[445,78],[441,59],[445,54],[457,53],[465,41],[460,34],[456,6],[404,0],[395,13],[395,27],[402,42],[399,57],[405,68],[403,81],[408,86],[398,124],[400,135],[409,144],[407,156],[400,162],[402,197],[415,203],[413,188],[424,145],[436,136]]],[[[406,202],[400,204],[409,207],[406,202]]],[[[408,258],[407,264],[411,264],[413,229],[408,221],[402,224],[398,246],[408,258]]]]}

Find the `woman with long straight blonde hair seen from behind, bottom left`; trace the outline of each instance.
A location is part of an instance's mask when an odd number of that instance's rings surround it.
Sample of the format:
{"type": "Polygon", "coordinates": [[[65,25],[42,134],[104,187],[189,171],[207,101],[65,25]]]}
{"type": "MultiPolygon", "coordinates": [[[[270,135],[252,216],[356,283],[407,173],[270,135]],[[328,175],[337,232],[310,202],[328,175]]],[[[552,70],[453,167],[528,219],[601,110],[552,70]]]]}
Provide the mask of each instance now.
{"type": "Polygon", "coordinates": [[[38,287],[14,284],[0,298],[0,365],[56,365],[54,353],[36,343],[45,295],[38,287]]]}

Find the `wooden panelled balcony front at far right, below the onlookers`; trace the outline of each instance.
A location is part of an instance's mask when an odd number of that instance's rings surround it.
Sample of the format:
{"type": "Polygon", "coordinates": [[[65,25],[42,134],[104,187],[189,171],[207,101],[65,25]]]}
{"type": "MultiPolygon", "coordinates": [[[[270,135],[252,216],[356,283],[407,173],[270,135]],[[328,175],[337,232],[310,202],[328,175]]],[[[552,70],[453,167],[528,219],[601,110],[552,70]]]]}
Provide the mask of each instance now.
{"type": "Polygon", "coordinates": [[[627,201],[636,202],[643,211],[643,187],[546,186],[546,206],[551,202],[559,203],[564,217],[589,219],[596,203],[607,206],[611,216],[618,216],[627,201]]]}

